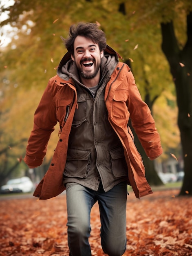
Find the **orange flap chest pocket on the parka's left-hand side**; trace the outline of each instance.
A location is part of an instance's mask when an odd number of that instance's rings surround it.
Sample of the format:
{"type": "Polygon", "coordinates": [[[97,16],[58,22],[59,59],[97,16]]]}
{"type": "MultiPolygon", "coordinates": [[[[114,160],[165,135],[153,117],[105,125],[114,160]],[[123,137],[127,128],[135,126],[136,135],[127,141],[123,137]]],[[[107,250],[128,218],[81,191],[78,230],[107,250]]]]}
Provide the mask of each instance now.
{"type": "Polygon", "coordinates": [[[66,122],[69,110],[71,107],[71,100],[70,99],[61,99],[55,102],[56,105],[56,115],[57,115],[57,121],[60,124],[63,124],[66,122]]]}

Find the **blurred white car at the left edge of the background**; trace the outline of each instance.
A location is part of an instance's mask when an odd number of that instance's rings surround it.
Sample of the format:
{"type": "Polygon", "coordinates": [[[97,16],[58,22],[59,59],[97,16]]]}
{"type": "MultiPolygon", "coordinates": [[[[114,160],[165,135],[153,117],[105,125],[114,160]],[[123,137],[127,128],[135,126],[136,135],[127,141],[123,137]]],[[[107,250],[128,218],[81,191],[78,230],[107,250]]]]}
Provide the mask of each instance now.
{"type": "Polygon", "coordinates": [[[21,177],[17,179],[12,179],[7,182],[6,185],[1,187],[1,193],[14,193],[22,192],[28,193],[33,190],[33,182],[29,177],[21,177]]]}

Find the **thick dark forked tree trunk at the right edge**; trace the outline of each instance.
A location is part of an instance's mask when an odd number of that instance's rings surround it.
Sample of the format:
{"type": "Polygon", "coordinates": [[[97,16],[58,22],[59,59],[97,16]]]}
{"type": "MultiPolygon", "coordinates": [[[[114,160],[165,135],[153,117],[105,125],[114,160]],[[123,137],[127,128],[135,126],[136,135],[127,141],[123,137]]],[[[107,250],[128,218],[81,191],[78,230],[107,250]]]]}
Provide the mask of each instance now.
{"type": "Polygon", "coordinates": [[[192,12],[187,16],[187,42],[179,49],[172,22],[161,23],[162,50],[170,65],[176,94],[185,177],[179,195],[192,195],[192,12]]]}

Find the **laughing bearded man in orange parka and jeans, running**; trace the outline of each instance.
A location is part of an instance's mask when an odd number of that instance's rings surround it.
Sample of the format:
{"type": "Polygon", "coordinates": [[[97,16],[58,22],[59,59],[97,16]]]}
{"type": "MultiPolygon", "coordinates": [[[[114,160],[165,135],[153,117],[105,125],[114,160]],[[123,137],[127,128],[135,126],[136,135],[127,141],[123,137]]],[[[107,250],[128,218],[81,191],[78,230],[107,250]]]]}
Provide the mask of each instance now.
{"type": "Polygon", "coordinates": [[[71,256],[91,256],[90,211],[98,202],[102,248],[120,256],[126,250],[127,184],[137,198],[152,193],[129,117],[150,159],[162,153],[159,134],[130,68],[96,24],[72,25],[62,39],[68,53],[35,112],[24,161],[30,168],[42,164],[59,122],[60,139],[34,196],[48,199],[66,189],[71,256]]]}

